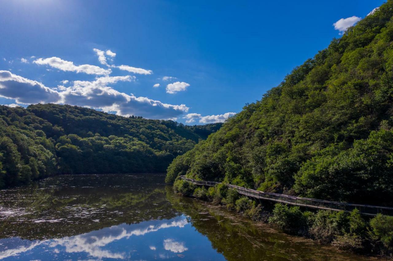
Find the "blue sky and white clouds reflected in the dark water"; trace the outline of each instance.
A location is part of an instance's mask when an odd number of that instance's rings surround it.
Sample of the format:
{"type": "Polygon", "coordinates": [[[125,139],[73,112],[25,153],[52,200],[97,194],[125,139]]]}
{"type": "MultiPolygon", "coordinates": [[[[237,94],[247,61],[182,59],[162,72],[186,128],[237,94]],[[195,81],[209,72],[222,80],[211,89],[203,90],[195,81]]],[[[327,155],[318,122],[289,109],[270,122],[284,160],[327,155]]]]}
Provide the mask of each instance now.
{"type": "Polygon", "coordinates": [[[2,239],[0,258],[12,259],[182,259],[224,260],[209,240],[182,215],[169,220],[103,228],[85,234],[47,240],[2,239]],[[187,246],[186,242],[192,242],[187,246]]]}

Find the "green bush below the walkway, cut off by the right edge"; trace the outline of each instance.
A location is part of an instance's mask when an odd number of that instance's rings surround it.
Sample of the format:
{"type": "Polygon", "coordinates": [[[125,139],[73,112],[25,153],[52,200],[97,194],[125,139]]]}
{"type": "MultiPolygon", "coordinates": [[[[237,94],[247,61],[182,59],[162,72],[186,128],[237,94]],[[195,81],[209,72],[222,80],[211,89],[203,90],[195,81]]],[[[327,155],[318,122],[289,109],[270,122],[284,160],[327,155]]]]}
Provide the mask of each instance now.
{"type": "Polygon", "coordinates": [[[378,214],[370,220],[371,228],[376,236],[389,250],[393,248],[393,217],[378,214]]]}

